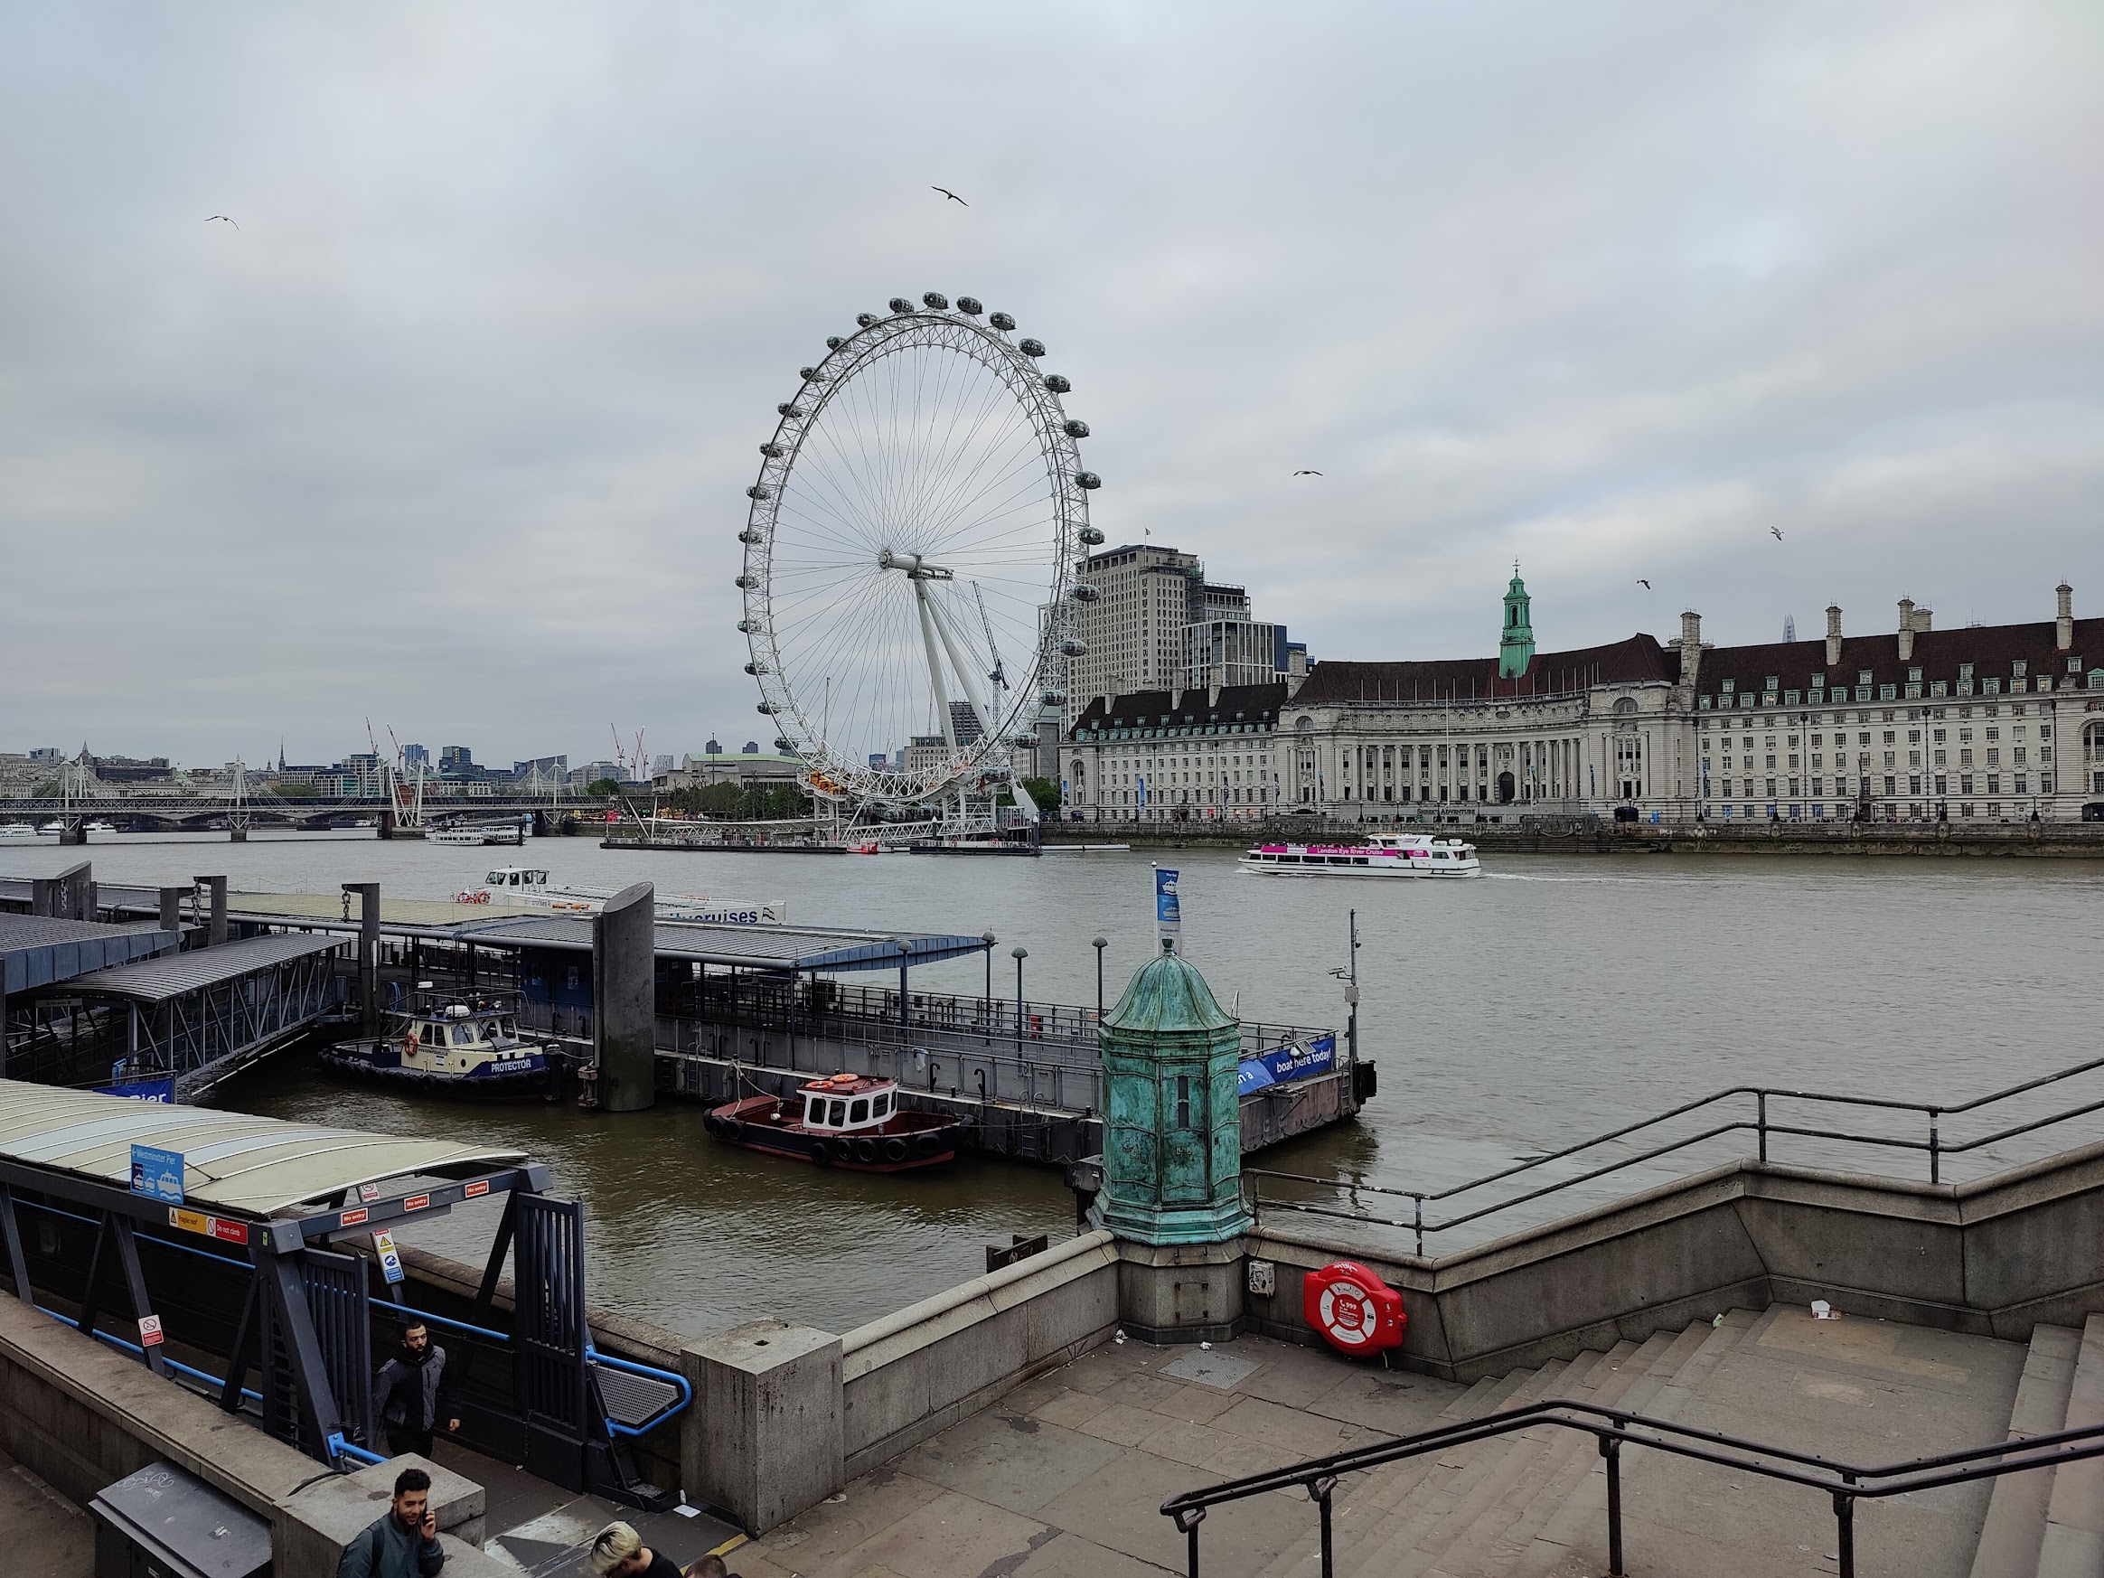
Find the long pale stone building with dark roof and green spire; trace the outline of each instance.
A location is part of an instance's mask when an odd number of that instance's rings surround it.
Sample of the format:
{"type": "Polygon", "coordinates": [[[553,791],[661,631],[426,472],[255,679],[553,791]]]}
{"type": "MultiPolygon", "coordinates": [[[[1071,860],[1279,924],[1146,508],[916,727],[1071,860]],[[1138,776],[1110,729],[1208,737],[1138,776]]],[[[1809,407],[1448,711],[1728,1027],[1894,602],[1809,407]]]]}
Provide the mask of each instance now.
{"type": "Polygon", "coordinates": [[[1065,806],[1092,823],[2104,816],[2104,619],[1538,652],[1517,570],[1498,654],[1321,661],[1262,684],[1075,696],[1065,806]]]}

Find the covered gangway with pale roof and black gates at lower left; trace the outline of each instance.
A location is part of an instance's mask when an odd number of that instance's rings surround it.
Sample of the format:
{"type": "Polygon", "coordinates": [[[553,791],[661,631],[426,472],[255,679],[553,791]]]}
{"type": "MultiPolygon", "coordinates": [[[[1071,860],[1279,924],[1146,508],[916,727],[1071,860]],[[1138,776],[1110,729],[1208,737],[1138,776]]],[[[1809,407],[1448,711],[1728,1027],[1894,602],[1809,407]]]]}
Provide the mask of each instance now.
{"type": "Polygon", "coordinates": [[[583,1208],[547,1187],[545,1166],[505,1147],[0,1079],[0,1239],[23,1302],[332,1464],[383,1460],[375,1332],[389,1342],[427,1317],[463,1365],[478,1361],[463,1445],[570,1492],[656,1506],[665,1494],[633,1473],[627,1441],[686,1408],[690,1387],[598,1351],[583,1208]],[[147,1155],[141,1174],[133,1147],[175,1159],[147,1155]],[[160,1193],[141,1191],[162,1176],[160,1193]],[[379,1281],[377,1229],[499,1199],[467,1319],[379,1281]],[[499,1311],[509,1254],[539,1296],[499,1311]]]}

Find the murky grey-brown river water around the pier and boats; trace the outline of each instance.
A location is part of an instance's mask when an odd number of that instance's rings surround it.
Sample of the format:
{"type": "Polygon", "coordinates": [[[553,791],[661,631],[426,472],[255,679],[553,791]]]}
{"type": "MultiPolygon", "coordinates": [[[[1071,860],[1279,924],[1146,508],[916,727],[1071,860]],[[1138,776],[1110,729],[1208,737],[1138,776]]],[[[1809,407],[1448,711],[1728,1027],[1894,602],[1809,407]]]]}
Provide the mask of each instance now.
{"type": "MultiPolygon", "coordinates": [[[[1359,1046],[1380,1069],[1380,1094],[1355,1124],[1256,1166],[1399,1189],[1479,1176],[1740,1084],[1959,1100],[2096,1056],[2104,1020],[2104,867],[2087,861],[1490,854],[1475,882],[1349,882],[1254,877],[1218,850],[789,858],[602,850],[585,837],[459,850],[364,833],[46,842],[6,850],[0,873],[48,875],[78,858],[95,861],[103,882],[223,871],[236,890],[379,882],[396,898],[444,898],[507,863],[547,867],[558,882],[650,879],[659,892],[785,901],[791,922],[991,930],[997,995],[1014,995],[1010,947],[1020,945],[1031,999],[1090,1006],[1094,936],[1109,938],[1113,1002],[1153,951],[1149,869],[1159,861],[1182,871],[1185,953],[1222,1006],[1336,1027],[1344,1002],[1330,970],[1344,964],[1357,907],[1359,1046]]],[[[978,993],[985,976],[974,959],[915,972],[915,983],[978,993]]],[[[2064,1100],[2077,1096],[2104,1096],[2104,1079],[2064,1100]]],[[[928,1176],[823,1172],[713,1145],[703,1109],[677,1100],[621,1117],[446,1105],[349,1088],[286,1056],[227,1105],[515,1145],[555,1170],[558,1193],[587,1201],[593,1302],[694,1336],[757,1315],[848,1330],[978,1275],[987,1243],[1073,1227],[1073,1197],[1052,1168],[959,1159],[928,1176]]],[[[2072,1138],[2047,1130],[1955,1172],[2072,1138]]],[[[1742,1149],[1717,1140],[1578,1199],[1742,1149]]],[[[1862,1151],[1812,1142],[1778,1155],[1868,1166],[1862,1151]]],[[[1925,1176],[1915,1155],[1883,1166],[1925,1176]]],[[[1365,1203],[1408,1214],[1376,1199],[1365,1203]]],[[[459,1216],[412,1241],[480,1258],[486,1239],[486,1220],[459,1216]]]]}

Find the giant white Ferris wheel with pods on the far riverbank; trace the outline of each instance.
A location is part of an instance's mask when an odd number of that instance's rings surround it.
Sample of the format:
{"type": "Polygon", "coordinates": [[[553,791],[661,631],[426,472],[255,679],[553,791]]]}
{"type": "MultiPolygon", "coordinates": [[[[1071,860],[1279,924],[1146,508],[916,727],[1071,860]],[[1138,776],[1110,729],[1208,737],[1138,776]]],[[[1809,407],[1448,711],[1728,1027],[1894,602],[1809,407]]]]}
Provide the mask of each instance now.
{"type": "MultiPolygon", "coordinates": [[[[1088,423],[1008,313],[930,290],[827,339],[760,446],[739,541],[760,711],[856,812],[991,797],[1086,646],[1088,423]]],[[[1014,793],[1025,814],[1029,795],[1014,793]]]]}

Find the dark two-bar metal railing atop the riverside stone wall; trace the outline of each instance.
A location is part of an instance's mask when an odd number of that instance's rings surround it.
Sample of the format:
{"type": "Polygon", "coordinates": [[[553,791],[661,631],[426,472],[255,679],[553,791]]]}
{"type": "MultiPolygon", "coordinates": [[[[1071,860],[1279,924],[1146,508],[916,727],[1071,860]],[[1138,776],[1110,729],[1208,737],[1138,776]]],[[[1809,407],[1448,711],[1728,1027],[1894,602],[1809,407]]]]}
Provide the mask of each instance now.
{"type": "Polygon", "coordinates": [[[1549,1195],[1563,1193],[1567,1189],[1580,1189],[1584,1185],[1597,1182],[1599,1178],[1607,1178],[1610,1174],[1626,1172],[1628,1168],[1647,1166],[1652,1161],[1658,1161],[1660,1157],[1668,1157],[1668,1155],[1673,1155],[1677,1151],[1687,1151],[1690,1147],[1704,1145],[1704,1142],[1715,1140],[1715,1138],[1719,1138],[1723,1134],[1755,1134],[1757,1136],[1757,1157],[1761,1161],[1769,1159],[1769,1155],[1767,1155],[1769,1140],[1776,1138],[1776,1136],[1801,1138],[1801,1140],[1833,1140],[1833,1142],[1843,1142],[1843,1145],[1866,1145],[1866,1147],[1875,1147],[1875,1149],[1883,1149],[1883,1151],[1915,1151],[1915,1153],[1927,1155],[1929,1182],[1931,1185],[1940,1185],[1944,1180],[1944,1161],[1948,1157],[1967,1155],[1971,1151],[1980,1151],[1980,1149],[1990,1147],[1990,1145],[2001,1145],[2001,1142],[2018,1138],[2022,1134],[2032,1134],[2032,1132],[2049,1128],[2054,1124],[2066,1124],[2070,1119],[2087,1117],[2089,1113],[2104,1111],[2104,1098],[2085,1100],[2085,1102],[2079,1102],[2075,1107],[2066,1107],[2066,1109],[2058,1109],[2058,1111],[2045,1113],[2043,1117],[2030,1117],[2026,1121],[2009,1124],[2009,1126],[1990,1130],[1986,1134],[1976,1134],[1976,1136],[1969,1136],[1969,1138],[1963,1138],[1963,1140],[1953,1140],[1953,1138],[1948,1138],[1944,1134],[1944,1121],[1946,1119],[1961,1117],[1961,1115],[1967,1115],[1967,1113],[1978,1113],[1978,1111],[1984,1111],[1984,1109],[1992,1107],[1995,1102],[2005,1102],[2005,1100],[2011,1100],[2016,1096],[2026,1096],[2030,1092],[2045,1090],[2049,1086],[2058,1086],[2058,1084],[2062,1084],[2066,1079],[2075,1079],[2079,1075],[2093,1073],[2098,1069],[2104,1069],[2104,1058],[2091,1058],[2087,1063],[2077,1063],[2077,1065],[2072,1065],[2068,1069],[2058,1069],[2056,1073],[2045,1073],[2045,1075],[2039,1075],[2035,1079],[2022,1079],[2022,1081],[2018,1081],[2014,1086],[2003,1086],[2001,1090],[1992,1090],[1992,1092],[1988,1092],[1984,1096],[1974,1096],[1971,1100],[1961,1100],[1961,1102],[1894,1100],[1889,1096],[1841,1096],[1841,1094],[1822,1092],[1822,1090],[1782,1090],[1782,1088],[1776,1088],[1776,1086],[1732,1086],[1729,1090],[1719,1090],[1715,1094],[1700,1096],[1698,1100],[1683,1102],[1679,1107],[1673,1107],[1671,1111],[1656,1113],[1652,1117],[1643,1117],[1643,1119],[1639,1119],[1635,1124],[1624,1124],[1622,1128],[1610,1130],[1605,1134],[1595,1134],[1589,1140],[1578,1140],[1576,1145],[1567,1145],[1561,1151],[1551,1151],[1546,1155],[1528,1157],[1525,1161],[1515,1161],[1513,1166],[1500,1168],[1498,1172],[1488,1172],[1481,1178],[1471,1178],[1466,1182],[1450,1185],[1448,1189],[1393,1189],[1389,1185],[1351,1182],[1351,1180],[1338,1180],[1338,1178],[1317,1178],[1317,1176],[1304,1174],[1304,1172],[1275,1172],[1275,1170],[1267,1170],[1267,1168],[1243,1168],[1241,1176],[1250,1180],[1248,1206],[1250,1206],[1252,1216],[1258,1222],[1262,1222],[1262,1212],[1267,1208],[1271,1208],[1271,1210],[1302,1212],[1302,1214],[1309,1214],[1309,1216],[1334,1216],[1338,1220],[1361,1222],[1361,1225],[1370,1225],[1370,1227],[1405,1229],[1405,1231],[1410,1231],[1410,1233],[1416,1235],[1416,1252],[1422,1256],[1424,1254],[1424,1235],[1427,1233],[1452,1233],[1454,1229],[1469,1227],[1469,1225],[1479,1222],[1479,1220],[1483,1220],[1488,1216],[1496,1216],[1498,1212],[1509,1212],[1509,1210],[1515,1210],[1519,1206],[1528,1206],[1532,1201],[1546,1199],[1549,1195]],[[1631,1140],[1633,1136],[1643,1134],[1645,1130],[1656,1130],[1660,1124],[1671,1124],[1673,1119],[1687,1117],[1690,1113],[1711,1113],[1715,1109],[1723,1109],[1727,1102],[1746,1102],[1746,1100],[1753,1102],[1753,1111],[1751,1113],[1729,1115],[1723,1121],[1708,1124],[1706,1128],[1702,1128],[1696,1134],[1685,1134],[1685,1136],[1671,1138],[1671,1140],[1664,1140],[1664,1142],[1658,1142],[1658,1145],[1650,1145],[1647,1149],[1641,1149],[1635,1155],[1616,1155],[1612,1159],[1599,1161],[1597,1166],[1586,1164],[1584,1170],[1578,1172],[1576,1176],[1555,1178],[1553,1182],[1544,1182],[1544,1185],[1538,1185],[1538,1187],[1532,1187],[1532,1189],[1523,1189],[1521,1193],[1515,1193],[1515,1195],[1509,1195],[1509,1197],[1502,1197],[1502,1199],[1494,1199],[1494,1201],[1490,1201],[1485,1206],[1475,1206],[1475,1208],[1469,1208],[1469,1210],[1460,1210],[1454,1216],[1441,1216],[1441,1218],[1427,1220],[1427,1214],[1424,1214],[1427,1206],[1439,1206],[1441,1201],[1460,1199],[1462,1195],[1469,1195],[1469,1193],[1473,1193],[1477,1189],[1488,1189],[1492,1185],[1500,1185],[1500,1182],[1506,1182],[1511,1178],[1519,1178],[1521,1174],[1530,1174],[1530,1172],[1536,1172],[1540,1168],[1549,1168],[1549,1166],[1559,1164],[1559,1161],[1572,1161],[1576,1157],[1582,1157],[1586,1151],[1595,1151],[1599,1147],[1607,1147],[1607,1145],[1616,1145],[1616,1142],[1622,1142],[1622,1140],[1631,1140]],[[1919,1136],[1908,1136],[1908,1134],[1866,1134],[1866,1132],[1860,1132],[1860,1130],[1816,1128],[1816,1126],[1807,1126],[1807,1124],[1778,1121],[1769,1113],[1769,1102],[1816,1102],[1816,1105],[1843,1107],[1843,1109],[1883,1111],[1883,1113],[1910,1113],[1913,1117],[1917,1117],[1921,1121],[1921,1132],[1919,1132],[1919,1136]],[[1363,1210],[1344,1210],[1344,1208],[1338,1208],[1338,1206],[1323,1206],[1323,1203],[1309,1201],[1309,1199],[1290,1199],[1290,1197],[1279,1197],[1279,1195],[1273,1195],[1273,1197],[1267,1199],[1265,1191],[1262,1191],[1262,1187],[1265,1187],[1262,1180],[1265,1178],[1286,1180],[1286,1182],[1294,1182],[1294,1185],[1315,1185],[1315,1187],[1332,1189],[1332,1191],[1344,1191],[1344,1193],[1349,1193],[1355,1199],[1361,1197],[1361,1195],[1387,1195],[1387,1197],[1393,1197],[1393,1199],[1408,1199],[1410,1201],[1410,1216],[1403,1216],[1403,1218],[1376,1216],[1376,1214],[1363,1212],[1363,1210]]]}

